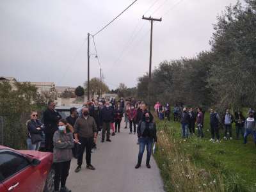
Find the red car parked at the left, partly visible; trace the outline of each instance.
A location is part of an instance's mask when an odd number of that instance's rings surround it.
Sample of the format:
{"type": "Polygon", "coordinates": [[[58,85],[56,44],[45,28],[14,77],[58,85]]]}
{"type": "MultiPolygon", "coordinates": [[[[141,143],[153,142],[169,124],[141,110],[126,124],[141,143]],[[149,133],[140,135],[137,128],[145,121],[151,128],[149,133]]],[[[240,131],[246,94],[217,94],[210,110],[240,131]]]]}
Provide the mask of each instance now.
{"type": "Polygon", "coordinates": [[[0,191],[54,191],[52,153],[0,145],[0,191]]]}

